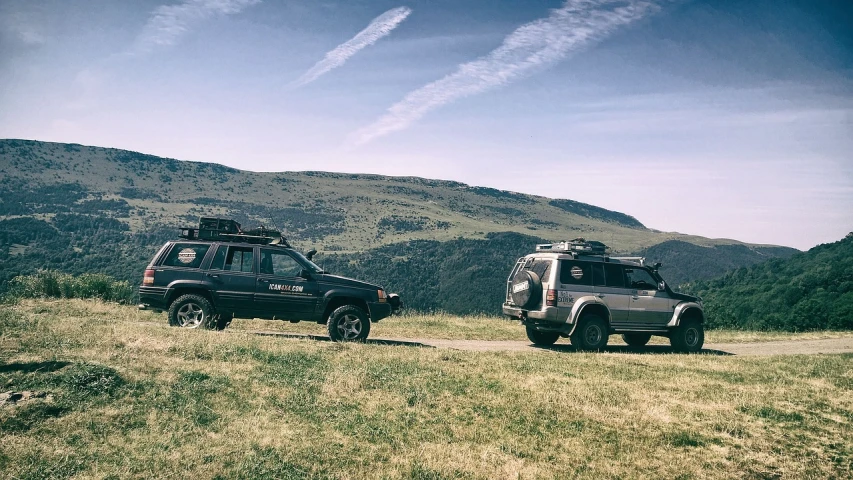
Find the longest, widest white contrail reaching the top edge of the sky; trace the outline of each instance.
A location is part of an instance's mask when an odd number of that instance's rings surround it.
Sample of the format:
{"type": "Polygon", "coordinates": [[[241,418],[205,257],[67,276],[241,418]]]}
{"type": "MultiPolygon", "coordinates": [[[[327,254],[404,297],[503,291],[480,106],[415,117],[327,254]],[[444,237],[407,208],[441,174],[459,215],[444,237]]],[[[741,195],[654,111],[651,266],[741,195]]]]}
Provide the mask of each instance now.
{"type": "Polygon", "coordinates": [[[518,27],[489,54],[410,92],[376,122],[354,132],[350,141],[360,145],[403,130],[442,105],[531,75],[657,9],[646,0],[566,0],[547,18],[518,27]]]}

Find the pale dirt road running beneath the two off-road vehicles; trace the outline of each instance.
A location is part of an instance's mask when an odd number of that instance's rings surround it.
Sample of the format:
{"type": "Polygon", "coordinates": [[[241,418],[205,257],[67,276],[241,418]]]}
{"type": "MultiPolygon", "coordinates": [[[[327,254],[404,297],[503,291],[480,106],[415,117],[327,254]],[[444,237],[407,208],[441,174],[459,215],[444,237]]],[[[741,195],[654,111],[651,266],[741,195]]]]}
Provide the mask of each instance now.
{"type": "MultiPolygon", "coordinates": [[[[306,338],[328,341],[329,337],[320,335],[302,335],[281,332],[253,332],[257,335],[288,338],[306,338]]],[[[371,338],[368,343],[379,345],[406,345],[413,347],[447,348],[475,352],[534,352],[575,351],[568,342],[558,342],[551,347],[537,347],[530,342],[518,340],[440,340],[431,338],[371,338]]],[[[669,345],[648,345],[642,348],[626,345],[610,345],[606,352],[613,353],[665,353],[670,352],[669,345]]],[[[705,344],[702,353],[711,355],[803,355],[821,353],[853,353],[853,338],[831,338],[826,340],[793,340],[756,343],[711,343],[705,344]]]]}

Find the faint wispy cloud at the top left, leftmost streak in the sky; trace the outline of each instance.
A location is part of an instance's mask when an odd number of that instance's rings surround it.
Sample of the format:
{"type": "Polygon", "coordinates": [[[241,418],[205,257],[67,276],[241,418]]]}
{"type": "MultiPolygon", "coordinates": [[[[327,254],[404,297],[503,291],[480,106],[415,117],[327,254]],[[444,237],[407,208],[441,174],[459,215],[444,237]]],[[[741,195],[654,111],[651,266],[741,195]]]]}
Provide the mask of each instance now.
{"type": "Polygon", "coordinates": [[[129,54],[149,53],[156,47],[174,45],[198,22],[217,15],[233,15],[261,0],[183,0],[161,5],[151,12],[129,54]]]}

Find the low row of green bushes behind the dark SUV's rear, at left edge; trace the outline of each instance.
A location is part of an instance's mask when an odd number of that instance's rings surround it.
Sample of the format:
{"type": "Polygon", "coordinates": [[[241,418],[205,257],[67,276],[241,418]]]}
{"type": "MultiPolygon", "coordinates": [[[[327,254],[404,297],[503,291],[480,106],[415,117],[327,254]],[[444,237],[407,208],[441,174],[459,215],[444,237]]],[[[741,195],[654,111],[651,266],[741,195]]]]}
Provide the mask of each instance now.
{"type": "Polygon", "coordinates": [[[131,303],[133,288],[101,273],[69,275],[43,270],[35,275],[21,275],[9,282],[7,299],[21,298],[99,298],[108,302],[131,303]]]}

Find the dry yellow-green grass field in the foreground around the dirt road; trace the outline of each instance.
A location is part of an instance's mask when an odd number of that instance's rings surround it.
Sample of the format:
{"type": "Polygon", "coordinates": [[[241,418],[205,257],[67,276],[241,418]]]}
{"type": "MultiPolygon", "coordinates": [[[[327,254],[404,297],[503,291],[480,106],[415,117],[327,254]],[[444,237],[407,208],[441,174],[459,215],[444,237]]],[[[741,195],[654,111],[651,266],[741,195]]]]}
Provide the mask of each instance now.
{"type": "MultiPolygon", "coordinates": [[[[523,338],[519,325],[497,319],[389,320],[373,335],[523,338]],[[466,323],[467,331],[457,328],[466,323]]],[[[167,327],[164,315],[97,301],[0,306],[2,390],[46,394],[0,407],[0,471],[8,478],[853,475],[851,355],[457,352],[241,331],[257,324],[185,331],[167,327]]]]}

